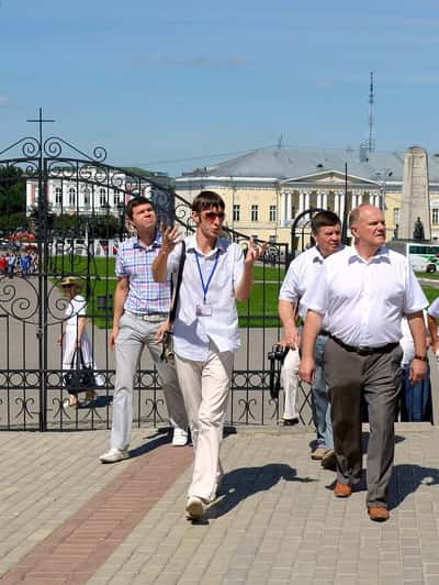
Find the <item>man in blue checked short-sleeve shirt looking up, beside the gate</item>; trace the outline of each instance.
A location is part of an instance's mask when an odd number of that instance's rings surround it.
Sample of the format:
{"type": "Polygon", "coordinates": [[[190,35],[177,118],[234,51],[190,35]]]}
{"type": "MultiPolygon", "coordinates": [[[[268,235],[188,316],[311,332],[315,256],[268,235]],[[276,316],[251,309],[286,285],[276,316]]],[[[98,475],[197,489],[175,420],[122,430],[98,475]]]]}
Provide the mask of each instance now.
{"type": "Polygon", "coordinates": [[[172,444],[188,442],[188,418],[175,368],[160,361],[161,340],[168,329],[171,280],[156,283],[151,266],[161,246],[154,203],[146,197],[132,199],[126,216],[137,235],[125,240],[117,252],[113,330],[110,346],[115,349],[116,379],[110,450],[102,463],[127,459],[133,421],[133,386],[144,346],[156,365],[169,419],[172,444]]]}

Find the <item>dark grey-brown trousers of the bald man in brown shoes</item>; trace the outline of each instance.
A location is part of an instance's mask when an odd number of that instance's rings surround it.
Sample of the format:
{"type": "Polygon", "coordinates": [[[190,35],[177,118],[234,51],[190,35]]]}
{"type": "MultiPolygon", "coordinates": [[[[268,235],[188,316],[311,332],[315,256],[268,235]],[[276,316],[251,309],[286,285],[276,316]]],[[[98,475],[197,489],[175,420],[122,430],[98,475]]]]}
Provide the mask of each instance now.
{"type": "Polygon", "coordinates": [[[325,349],[337,481],[354,485],[361,478],[361,405],[369,412],[368,507],[387,505],[395,450],[394,422],[402,387],[399,345],[386,353],[359,355],[331,339],[325,349]]]}

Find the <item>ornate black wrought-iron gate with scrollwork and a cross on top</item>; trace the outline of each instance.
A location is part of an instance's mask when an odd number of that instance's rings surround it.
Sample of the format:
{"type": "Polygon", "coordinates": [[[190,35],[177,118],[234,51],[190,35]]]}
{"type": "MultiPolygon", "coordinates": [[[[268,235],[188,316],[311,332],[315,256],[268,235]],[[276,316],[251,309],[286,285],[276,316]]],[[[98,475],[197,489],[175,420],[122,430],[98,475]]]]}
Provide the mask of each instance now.
{"type": "MultiPolygon", "coordinates": [[[[127,233],[125,202],[146,195],[157,203],[161,221],[179,222],[187,231],[193,230],[190,203],[160,177],[108,165],[102,147],[89,156],[64,139],[44,139],[42,115],[38,122],[38,137],[21,139],[0,152],[0,209],[10,219],[1,224],[0,217],[0,256],[16,256],[14,274],[0,274],[0,429],[109,428],[114,253],[127,233]],[[27,227],[16,225],[16,220],[13,224],[13,211],[18,200],[24,209],[24,197],[27,227]],[[27,253],[30,268],[21,260],[27,253]],[[99,398],[78,409],[63,407],[63,347],[56,343],[69,305],[59,283],[70,275],[83,283],[95,374],[102,380],[99,398]]],[[[246,240],[233,230],[226,235],[246,240]]],[[[288,257],[288,244],[270,245],[257,266],[256,291],[240,309],[243,347],[235,361],[229,423],[275,423],[282,413],[269,396],[267,353],[280,336],[277,302],[288,257]]],[[[302,394],[302,422],[309,424],[307,393],[302,394]]],[[[134,411],[138,426],[167,421],[147,352],[139,365],[134,411]]]]}

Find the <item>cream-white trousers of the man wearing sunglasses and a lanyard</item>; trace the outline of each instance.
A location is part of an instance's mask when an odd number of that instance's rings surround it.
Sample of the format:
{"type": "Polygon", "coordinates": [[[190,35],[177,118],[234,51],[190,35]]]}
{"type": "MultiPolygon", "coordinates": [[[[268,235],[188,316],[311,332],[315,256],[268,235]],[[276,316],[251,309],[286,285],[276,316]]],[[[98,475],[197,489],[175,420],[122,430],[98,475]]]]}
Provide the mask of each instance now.
{"type": "Polygon", "coordinates": [[[223,474],[219,446],[230,388],[234,354],[215,346],[205,362],[176,355],[177,374],[188,412],[194,450],[193,476],[188,496],[215,498],[223,474]]]}

